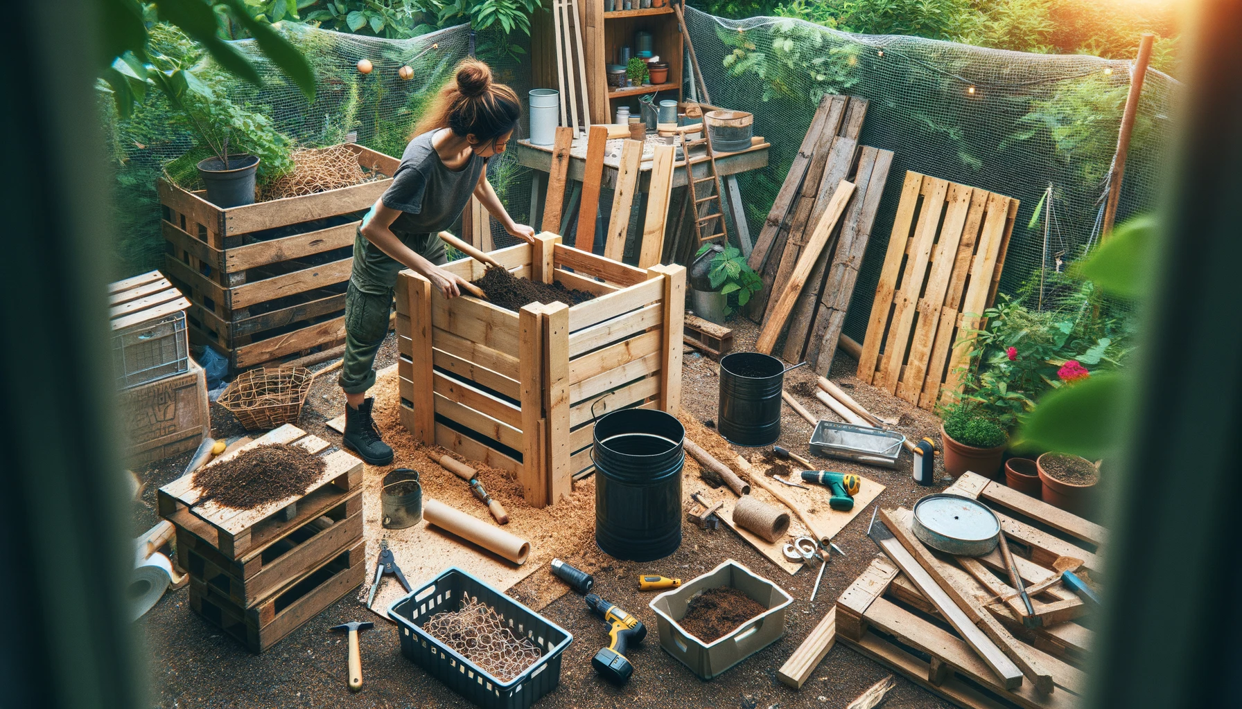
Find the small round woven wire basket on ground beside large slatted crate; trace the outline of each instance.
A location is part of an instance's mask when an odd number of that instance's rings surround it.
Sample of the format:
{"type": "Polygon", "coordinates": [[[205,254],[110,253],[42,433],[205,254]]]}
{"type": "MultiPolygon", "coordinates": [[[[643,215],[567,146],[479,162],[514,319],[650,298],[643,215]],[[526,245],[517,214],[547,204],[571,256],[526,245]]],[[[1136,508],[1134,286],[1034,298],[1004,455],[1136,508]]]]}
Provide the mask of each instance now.
{"type": "Polygon", "coordinates": [[[219,402],[247,431],[266,431],[297,422],[313,381],[314,375],[303,366],[252,369],[237,375],[219,402]]]}

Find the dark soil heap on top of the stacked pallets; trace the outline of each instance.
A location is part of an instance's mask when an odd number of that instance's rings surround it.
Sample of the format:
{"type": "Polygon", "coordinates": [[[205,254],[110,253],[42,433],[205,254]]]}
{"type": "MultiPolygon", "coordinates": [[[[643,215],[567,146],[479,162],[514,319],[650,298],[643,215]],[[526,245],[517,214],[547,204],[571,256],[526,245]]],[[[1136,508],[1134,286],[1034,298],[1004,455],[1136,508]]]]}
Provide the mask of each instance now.
{"type": "Polygon", "coordinates": [[[200,468],[194,487],[233,509],[255,509],[301,495],[323,474],[324,462],[301,446],[273,443],[251,448],[231,461],[200,468]]]}

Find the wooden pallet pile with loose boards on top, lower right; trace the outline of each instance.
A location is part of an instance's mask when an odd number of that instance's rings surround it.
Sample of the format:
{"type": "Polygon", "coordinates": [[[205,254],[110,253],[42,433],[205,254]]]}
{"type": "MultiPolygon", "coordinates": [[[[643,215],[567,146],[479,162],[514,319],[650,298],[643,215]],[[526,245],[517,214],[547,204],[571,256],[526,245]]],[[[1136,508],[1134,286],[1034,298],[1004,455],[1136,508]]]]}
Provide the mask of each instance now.
{"type": "MultiPolygon", "coordinates": [[[[913,682],[969,709],[1021,707],[1025,709],[1072,708],[1082,704],[1092,631],[1077,622],[1088,613],[1073,592],[1054,581],[1053,565],[1082,561],[1079,574],[1098,576],[1098,546],[1105,530],[1086,519],[1045,504],[974,473],[966,473],[946,492],[984,502],[1001,520],[1015,565],[1032,595],[1040,627],[1027,627],[1023,606],[1012,595],[999,551],[979,559],[950,558],[915,548],[933,558],[930,564],[954,594],[954,607],[969,618],[963,630],[946,617],[945,596],[899,570],[897,558],[881,558],[841,595],[836,605],[838,639],[858,652],[888,664],[913,682]],[[1018,551],[1025,556],[1018,555],[1018,551]],[[930,595],[929,595],[930,592],[930,595]],[[977,615],[977,618],[971,616],[977,615]],[[951,627],[950,627],[951,626],[951,627]],[[1004,656],[980,653],[968,631],[984,630],[999,638],[1004,656]],[[1007,679],[995,669],[1007,657],[1021,668],[1007,679]],[[1023,674],[1027,677],[1023,678],[1023,674]],[[1031,675],[1035,675],[1035,679],[1031,675]],[[1026,680],[1023,680],[1026,679],[1026,680]]],[[[902,526],[905,545],[918,545],[908,533],[909,512],[886,510],[889,526],[902,526]]],[[[889,544],[893,540],[888,541],[889,544]]],[[[894,546],[894,553],[900,553],[894,546]]],[[[913,556],[913,554],[912,554],[913,556]]],[[[905,558],[909,564],[910,558],[905,558]]],[[[912,572],[922,575],[923,562],[912,572]]],[[[949,608],[950,615],[956,615],[949,608]]]]}

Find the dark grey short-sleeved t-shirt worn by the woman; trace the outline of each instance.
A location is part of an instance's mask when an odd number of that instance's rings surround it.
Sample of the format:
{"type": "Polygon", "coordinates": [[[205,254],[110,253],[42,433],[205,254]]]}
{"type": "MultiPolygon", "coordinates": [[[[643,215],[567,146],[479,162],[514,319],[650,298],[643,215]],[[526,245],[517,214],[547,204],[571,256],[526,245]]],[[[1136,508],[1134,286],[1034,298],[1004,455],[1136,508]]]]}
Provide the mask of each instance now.
{"type": "Polygon", "coordinates": [[[410,140],[392,175],[392,184],[380,197],[384,206],[401,210],[401,216],[392,222],[394,233],[427,233],[448,228],[466,209],[478,184],[483,158],[471,155],[461,170],[450,170],[431,145],[435,134],[430,130],[410,140]]]}

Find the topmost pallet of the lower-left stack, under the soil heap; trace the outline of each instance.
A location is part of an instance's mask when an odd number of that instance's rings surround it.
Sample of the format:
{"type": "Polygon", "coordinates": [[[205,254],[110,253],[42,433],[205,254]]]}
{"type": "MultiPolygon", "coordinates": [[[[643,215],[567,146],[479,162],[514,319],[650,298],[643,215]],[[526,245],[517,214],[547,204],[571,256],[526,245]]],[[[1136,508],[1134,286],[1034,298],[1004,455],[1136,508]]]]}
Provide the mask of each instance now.
{"type": "Polygon", "coordinates": [[[307,492],[262,507],[238,510],[214,500],[200,503],[202,492],[194,487],[194,473],[178,478],[159,489],[159,515],[179,529],[185,529],[232,560],[252,560],[273,543],[325,512],[348,500],[360,490],[363,462],[335,448],[318,436],[286,423],[231,453],[220,456],[209,466],[232,459],[243,451],[268,443],[293,443],[324,461],[324,472],[307,492]]]}

